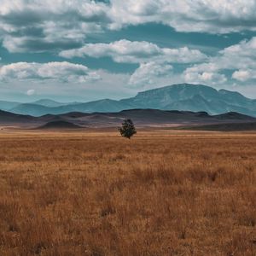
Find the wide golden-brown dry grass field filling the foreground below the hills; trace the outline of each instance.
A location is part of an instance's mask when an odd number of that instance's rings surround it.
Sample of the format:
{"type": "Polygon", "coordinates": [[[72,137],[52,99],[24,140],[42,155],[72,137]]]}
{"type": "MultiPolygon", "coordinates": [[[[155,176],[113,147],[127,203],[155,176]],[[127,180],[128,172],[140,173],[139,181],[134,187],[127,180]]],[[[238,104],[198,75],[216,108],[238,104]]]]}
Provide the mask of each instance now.
{"type": "Polygon", "coordinates": [[[256,134],[0,134],[0,255],[256,255],[256,134]]]}

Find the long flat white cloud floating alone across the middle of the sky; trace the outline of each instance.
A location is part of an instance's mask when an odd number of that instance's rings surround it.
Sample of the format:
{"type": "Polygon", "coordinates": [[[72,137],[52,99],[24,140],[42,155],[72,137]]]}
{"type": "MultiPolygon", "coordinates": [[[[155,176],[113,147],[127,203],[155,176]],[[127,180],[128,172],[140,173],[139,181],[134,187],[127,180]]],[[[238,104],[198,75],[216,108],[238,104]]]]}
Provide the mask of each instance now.
{"type": "Polygon", "coordinates": [[[123,63],[142,63],[145,61],[189,63],[203,61],[207,58],[197,49],[187,47],[178,49],[160,48],[156,44],[145,41],[131,42],[125,39],[110,44],[85,44],[84,47],[79,49],[61,51],[60,55],[66,58],[109,56],[113,61],[123,63]]]}

